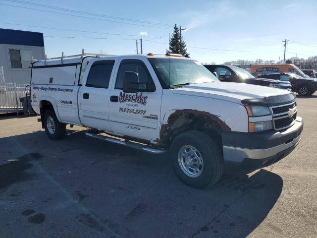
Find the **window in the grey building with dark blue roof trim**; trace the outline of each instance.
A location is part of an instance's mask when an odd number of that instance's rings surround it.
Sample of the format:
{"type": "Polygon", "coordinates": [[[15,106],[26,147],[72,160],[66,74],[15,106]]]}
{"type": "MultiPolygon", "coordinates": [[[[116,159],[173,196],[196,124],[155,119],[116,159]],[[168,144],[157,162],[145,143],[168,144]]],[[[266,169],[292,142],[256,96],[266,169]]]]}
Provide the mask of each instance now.
{"type": "Polygon", "coordinates": [[[30,68],[32,62],[31,50],[9,49],[11,68],[30,68]]]}

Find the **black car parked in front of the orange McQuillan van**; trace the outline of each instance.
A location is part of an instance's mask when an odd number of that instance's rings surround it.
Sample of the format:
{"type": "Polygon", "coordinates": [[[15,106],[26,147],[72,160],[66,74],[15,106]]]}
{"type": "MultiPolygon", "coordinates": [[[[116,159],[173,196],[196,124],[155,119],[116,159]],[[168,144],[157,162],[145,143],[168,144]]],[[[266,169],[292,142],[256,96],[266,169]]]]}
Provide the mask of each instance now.
{"type": "Polygon", "coordinates": [[[292,84],[292,91],[302,96],[311,95],[317,91],[316,78],[304,78],[295,73],[269,73],[260,75],[259,77],[290,81],[292,84]]]}

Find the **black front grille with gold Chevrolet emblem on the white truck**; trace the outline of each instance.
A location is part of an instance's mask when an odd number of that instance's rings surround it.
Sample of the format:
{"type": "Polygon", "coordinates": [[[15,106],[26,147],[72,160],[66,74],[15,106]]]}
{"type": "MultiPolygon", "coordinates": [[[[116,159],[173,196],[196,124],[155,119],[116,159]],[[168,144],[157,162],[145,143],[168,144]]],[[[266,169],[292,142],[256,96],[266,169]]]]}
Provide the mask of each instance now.
{"type": "Polygon", "coordinates": [[[296,102],[270,107],[275,130],[282,130],[292,126],[297,116],[296,102]]]}

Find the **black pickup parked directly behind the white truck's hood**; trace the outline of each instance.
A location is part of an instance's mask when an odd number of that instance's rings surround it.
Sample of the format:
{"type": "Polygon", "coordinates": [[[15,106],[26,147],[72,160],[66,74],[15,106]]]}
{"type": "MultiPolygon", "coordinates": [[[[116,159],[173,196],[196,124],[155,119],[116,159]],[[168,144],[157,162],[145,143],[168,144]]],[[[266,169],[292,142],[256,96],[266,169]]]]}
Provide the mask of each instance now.
{"type": "Polygon", "coordinates": [[[291,91],[291,83],[267,78],[256,78],[243,68],[233,65],[209,64],[204,65],[222,82],[248,83],[291,91]]]}

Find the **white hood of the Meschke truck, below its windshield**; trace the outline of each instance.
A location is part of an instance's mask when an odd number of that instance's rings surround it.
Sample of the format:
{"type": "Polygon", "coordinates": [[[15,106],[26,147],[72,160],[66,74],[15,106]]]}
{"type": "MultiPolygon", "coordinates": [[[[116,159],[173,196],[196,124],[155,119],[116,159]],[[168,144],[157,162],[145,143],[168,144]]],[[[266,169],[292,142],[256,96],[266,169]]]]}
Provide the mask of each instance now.
{"type": "Polygon", "coordinates": [[[181,88],[173,89],[173,93],[197,97],[208,97],[239,104],[241,104],[241,101],[245,99],[263,99],[271,96],[291,94],[291,92],[284,89],[231,82],[190,84],[181,88]]]}

